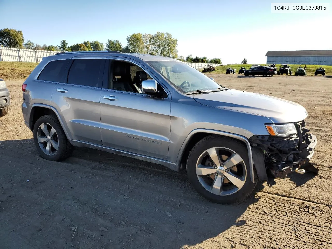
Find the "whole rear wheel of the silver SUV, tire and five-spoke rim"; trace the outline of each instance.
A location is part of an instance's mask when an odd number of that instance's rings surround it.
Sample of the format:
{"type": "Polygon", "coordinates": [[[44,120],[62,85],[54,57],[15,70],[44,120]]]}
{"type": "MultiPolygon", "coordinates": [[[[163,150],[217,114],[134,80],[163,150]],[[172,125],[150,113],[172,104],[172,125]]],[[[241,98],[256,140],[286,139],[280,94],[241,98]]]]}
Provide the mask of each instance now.
{"type": "Polygon", "coordinates": [[[42,116],[36,121],[34,141],[41,157],[51,161],[66,159],[73,149],[58,119],[53,115],[42,116]]]}

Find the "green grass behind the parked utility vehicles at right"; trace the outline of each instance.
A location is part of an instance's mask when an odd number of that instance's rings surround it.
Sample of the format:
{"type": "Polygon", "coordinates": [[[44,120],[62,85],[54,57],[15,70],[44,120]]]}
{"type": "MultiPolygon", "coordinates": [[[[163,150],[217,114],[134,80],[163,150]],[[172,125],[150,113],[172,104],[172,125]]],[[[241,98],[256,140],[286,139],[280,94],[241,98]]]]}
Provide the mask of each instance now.
{"type": "MultiPolygon", "coordinates": [[[[266,63],[262,63],[261,66],[265,66],[266,63]]],[[[239,69],[241,67],[245,67],[246,69],[249,69],[252,66],[252,64],[232,64],[232,65],[223,65],[223,66],[217,66],[215,67],[215,71],[211,72],[211,73],[219,73],[219,74],[225,74],[226,73],[226,69],[228,67],[232,68],[232,69],[236,69],[236,74],[239,72],[239,69]]],[[[276,65],[279,69],[280,64],[276,65]]],[[[296,68],[299,66],[299,64],[291,64],[291,70],[293,72],[292,75],[295,74],[296,68]]],[[[304,65],[302,65],[304,66],[304,65]]],[[[324,67],[325,68],[325,75],[332,75],[332,66],[323,66],[323,65],[307,65],[307,75],[314,75],[315,71],[317,68],[319,67],[324,67]]],[[[201,70],[202,71],[202,70],[201,70]]]]}

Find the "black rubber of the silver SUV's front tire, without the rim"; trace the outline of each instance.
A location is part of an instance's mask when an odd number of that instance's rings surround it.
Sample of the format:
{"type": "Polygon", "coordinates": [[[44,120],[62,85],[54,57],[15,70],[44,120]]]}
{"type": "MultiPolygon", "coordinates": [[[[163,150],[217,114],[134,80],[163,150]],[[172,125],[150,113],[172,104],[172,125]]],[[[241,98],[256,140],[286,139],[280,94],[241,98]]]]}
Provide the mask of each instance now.
{"type": "Polygon", "coordinates": [[[212,201],[215,203],[220,203],[220,204],[241,202],[241,201],[245,200],[254,191],[254,189],[257,185],[257,181],[258,181],[258,176],[257,176],[255,169],[254,169],[255,183],[253,183],[250,180],[248,150],[247,150],[246,146],[235,139],[223,137],[223,136],[215,135],[215,134],[209,135],[209,136],[203,138],[192,148],[192,150],[189,153],[188,160],[187,160],[187,175],[188,175],[189,181],[192,183],[193,187],[200,195],[202,195],[204,198],[206,198],[209,201],[212,201]],[[200,155],[205,150],[212,148],[212,147],[218,147],[218,146],[229,148],[229,149],[235,151],[242,157],[242,159],[245,163],[245,167],[246,167],[246,171],[247,171],[247,177],[246,177],[245,183],[240,190],[238,190],[237,192],[235,192],[234,194],[231,194],[231,195],[220,196],[220,195],[216,195],[216,194],[209,192],[200,183],[198,176],[196,174],[196,163],[197,163],[200,155]]]}

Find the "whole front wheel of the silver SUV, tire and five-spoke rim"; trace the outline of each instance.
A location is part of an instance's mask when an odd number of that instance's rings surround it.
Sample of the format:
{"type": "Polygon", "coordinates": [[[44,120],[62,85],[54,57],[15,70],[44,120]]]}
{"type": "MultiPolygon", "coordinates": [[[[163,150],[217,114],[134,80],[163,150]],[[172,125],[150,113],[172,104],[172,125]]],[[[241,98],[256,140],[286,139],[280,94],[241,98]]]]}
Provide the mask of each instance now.
{"type": "Polygon", "coordinates": [[[209,135],[190,151],[187,160],[190,182],[206,199],[215,203],[234,203],[246,199],[255,189],[250,180],[248,151],[237,140],[209,135]]]}

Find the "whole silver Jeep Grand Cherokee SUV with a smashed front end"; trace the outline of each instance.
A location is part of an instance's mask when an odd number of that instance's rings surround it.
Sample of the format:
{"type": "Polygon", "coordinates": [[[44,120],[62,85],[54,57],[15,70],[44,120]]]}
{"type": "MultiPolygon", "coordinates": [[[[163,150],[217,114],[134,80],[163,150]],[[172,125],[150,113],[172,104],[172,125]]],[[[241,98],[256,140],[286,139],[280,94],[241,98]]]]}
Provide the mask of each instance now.
{"type": "Polygon", "coordinates": [[[181,61],[117,51],[45,57],[22,86],[22,112],[41,157],[90,147],[187,170],[216,203],[257,181],[304,173],[316,137],[293,102],[230,90],[181,61]]]}

